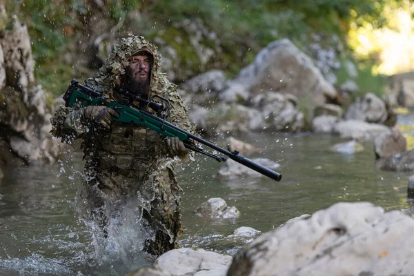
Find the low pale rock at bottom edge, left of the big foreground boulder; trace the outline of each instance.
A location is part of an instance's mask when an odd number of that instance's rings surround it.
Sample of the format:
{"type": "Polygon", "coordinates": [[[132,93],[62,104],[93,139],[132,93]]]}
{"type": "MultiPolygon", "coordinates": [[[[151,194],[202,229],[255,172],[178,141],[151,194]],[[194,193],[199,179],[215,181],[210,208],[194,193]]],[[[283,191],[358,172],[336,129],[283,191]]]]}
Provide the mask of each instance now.
{"type": "Polygon", "coordinates": [[[226,276],[232,259],[204,249],[179,248],[161,255],[153,268],[139,268],[128,276],[226,276]]]}

